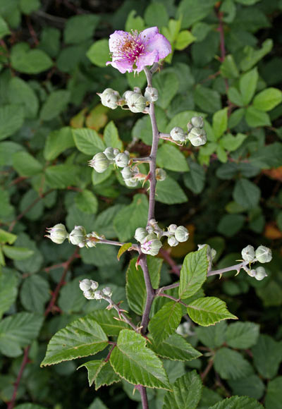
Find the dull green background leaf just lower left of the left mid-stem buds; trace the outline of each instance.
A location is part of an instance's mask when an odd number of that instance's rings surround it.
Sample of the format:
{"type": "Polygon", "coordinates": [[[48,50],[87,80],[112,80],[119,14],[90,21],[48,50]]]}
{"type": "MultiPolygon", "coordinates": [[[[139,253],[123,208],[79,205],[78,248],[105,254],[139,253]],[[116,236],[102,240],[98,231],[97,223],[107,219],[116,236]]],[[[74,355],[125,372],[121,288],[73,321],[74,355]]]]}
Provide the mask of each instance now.
{"type": "Polygon", "coordinates": [[[79,168],[75,165],[61,164],[48,166],[45,171],[46,183],[52,189],[65,189],[77,183],[79,168]]]}

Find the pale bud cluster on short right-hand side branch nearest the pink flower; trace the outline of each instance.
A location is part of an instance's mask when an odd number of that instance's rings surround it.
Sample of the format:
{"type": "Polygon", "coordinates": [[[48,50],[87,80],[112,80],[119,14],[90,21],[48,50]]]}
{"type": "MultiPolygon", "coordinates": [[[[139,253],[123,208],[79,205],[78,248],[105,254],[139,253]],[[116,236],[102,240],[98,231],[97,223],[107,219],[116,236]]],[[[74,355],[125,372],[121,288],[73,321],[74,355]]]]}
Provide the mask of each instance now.
{"type": "Polygon", "coordinates": [[[190,140],[193,146],[204,145],[207,142],[207,134],[203,126],[202,116],[193,116],[187,126],[188,133],[185,133],[180,126],[175,126],[170,132],[171,139],[180,143],[186,143],[190,140]]]}

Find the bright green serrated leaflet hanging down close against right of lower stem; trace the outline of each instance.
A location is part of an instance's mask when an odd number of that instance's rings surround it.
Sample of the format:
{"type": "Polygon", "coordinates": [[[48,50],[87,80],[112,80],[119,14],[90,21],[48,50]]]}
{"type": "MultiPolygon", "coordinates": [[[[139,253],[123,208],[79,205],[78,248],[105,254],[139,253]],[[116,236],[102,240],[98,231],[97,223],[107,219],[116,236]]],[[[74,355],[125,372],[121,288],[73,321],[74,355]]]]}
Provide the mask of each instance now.
{"type": "Polygon", "coordinates": [[[180,324],[182,317],[181,305],[170,301],[159,310],[149,322],[149,333],[154,342],[159,344],[168,338],[180,324]]]}

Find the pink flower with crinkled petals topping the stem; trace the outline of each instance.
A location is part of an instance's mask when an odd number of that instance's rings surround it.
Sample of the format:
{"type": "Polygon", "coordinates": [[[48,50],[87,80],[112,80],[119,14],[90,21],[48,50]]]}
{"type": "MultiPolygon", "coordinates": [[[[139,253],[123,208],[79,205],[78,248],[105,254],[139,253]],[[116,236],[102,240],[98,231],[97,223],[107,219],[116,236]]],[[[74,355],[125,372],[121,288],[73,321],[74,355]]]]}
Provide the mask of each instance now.
{"type": "Polygon", "coordinates": [[[140,73],[145,66],[152,66],[171,53],[171,44],[157,27],[147,28],[140,33],[115,31],[110,35],[109,48],[112,61],[106,65],[111,64],[121,73],[140,73]]]}

